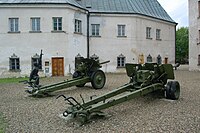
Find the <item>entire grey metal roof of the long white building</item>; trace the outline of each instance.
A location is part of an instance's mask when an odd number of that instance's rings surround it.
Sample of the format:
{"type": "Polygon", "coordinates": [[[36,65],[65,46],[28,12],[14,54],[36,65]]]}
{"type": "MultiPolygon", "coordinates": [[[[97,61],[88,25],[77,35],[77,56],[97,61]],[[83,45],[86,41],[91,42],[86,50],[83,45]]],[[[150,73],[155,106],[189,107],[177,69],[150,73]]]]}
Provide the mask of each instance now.
{"type": "Polygon", "coordinates": [[[0,0],[0,4],[70,4],[93,13],[140,14],[175,23],[157,0],[0,0]]]}

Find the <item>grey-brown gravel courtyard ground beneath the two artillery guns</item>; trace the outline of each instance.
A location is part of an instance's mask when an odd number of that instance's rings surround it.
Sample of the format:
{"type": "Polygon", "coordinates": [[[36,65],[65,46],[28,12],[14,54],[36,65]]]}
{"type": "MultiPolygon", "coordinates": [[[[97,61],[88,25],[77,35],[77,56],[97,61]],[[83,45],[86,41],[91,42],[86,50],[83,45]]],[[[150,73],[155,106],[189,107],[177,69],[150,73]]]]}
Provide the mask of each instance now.
{"type": "MultiPolygon", "coordinates": [[[[129,82],[126,74],[107,74],[107,83],[101,90],[86,87],[71,87],[54,92],[54,96],[33,98],[24,92],[19,83],[0,85],[0,113],[8,123],[7,133],[124,133],[124,132],[200,132],[200,72],[176,70],[176,80],[181,85],[181,96],[177,101],[155,98],[152,95],[136,98],[120,105],[105,109],[107,117],[94,120],[83,126],[75,121],[59,117],[65,110],[59,94],[74,96],[80,94],[89,99],[91,95],[104,94],[129,82]]],[[[66,77],[44,78],[42,84],[62,81],[66,77]]]]}

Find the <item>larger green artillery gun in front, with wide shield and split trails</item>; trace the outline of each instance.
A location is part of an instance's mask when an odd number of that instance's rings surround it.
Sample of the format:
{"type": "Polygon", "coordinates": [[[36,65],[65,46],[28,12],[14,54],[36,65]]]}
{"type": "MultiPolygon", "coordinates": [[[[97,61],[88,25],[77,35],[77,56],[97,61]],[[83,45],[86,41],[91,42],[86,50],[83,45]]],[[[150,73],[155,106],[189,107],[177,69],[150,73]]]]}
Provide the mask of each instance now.
{"type": "Polygon", "coordinates": [[[103,109],[151,92],[158,92],[167,99],[177,100],[179,98],[180,85],[178,81],[173,80],[174,71],[171,64],[126,64],[126,72],[130,77],[129,83],[102,96],[91,98],[87,102],[82,99],[83,103],[79,103],[73,97],[58,96],[58,98],[64,97],[64,100],[70,105],[64,111],[63,116],[77,118],[81,124],[84,124],[93,116],[104,116],[103,109]],[[170,81],[167,81],[168,79],[170,81]]]}

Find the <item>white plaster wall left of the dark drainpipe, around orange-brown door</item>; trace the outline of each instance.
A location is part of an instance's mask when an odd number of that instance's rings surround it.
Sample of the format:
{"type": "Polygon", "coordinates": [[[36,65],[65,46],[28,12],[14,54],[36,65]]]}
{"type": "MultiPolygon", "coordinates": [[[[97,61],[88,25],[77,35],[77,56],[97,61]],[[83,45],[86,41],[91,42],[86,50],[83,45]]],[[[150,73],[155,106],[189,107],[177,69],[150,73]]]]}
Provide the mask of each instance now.
{"type": "MultiPolygon", "coordinates": [[[[52,57],[64,57],[65,74],[74,69],[74,57],[78,53],[87,55],[86,28],[83,34],[74,34],[74,19],[82,20],[86,25],[86,15],[79,9],[68,6],[40,5],[31,6],[0,6],[0,77],[25,76],[31,71],[31,57],[43,50],[44,61],[51,61],[52,57]],[[78,15],[77,15],[78,14],[78,15]],[[20,33],[8,33],[8,19],[19,18],[20,33]],[[30,18],[40,17],[41,33],[29,33],[30,18]],[[64,32],[51,32],[53,29],[52,17],[62,17],[64,32]],[[21,72],[9,71],[9,57],[15,53],[20,57],[21,72]],[[72,67],[69,69],[69,66],[72,67]]],[[[50,69],[51,72],[51,69],[50,69]]]]}

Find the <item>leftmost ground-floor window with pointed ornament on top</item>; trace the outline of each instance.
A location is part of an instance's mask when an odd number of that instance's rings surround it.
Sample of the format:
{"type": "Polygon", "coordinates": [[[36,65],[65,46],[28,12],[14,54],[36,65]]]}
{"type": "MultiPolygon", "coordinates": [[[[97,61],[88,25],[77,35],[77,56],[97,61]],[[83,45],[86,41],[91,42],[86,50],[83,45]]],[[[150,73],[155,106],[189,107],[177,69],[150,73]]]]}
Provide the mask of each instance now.
{"type": "Polygon", "coordinates": [[[13,54],[9,58],[9,66],[11,71],[18,71],[20,70],[20,60],[15,54],[13,54]]]}

